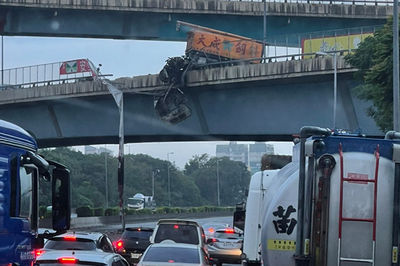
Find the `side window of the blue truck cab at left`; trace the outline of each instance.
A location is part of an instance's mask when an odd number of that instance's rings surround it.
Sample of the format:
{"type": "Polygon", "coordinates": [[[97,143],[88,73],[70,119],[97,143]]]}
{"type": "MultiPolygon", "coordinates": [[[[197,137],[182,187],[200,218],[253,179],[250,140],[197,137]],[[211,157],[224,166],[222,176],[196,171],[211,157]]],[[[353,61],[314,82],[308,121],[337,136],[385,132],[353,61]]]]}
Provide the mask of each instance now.
{"type": "Polygon", "coordinates": [[[28,173],[25,167],[20,167],[19,178],[21,195],[19,216],[30,219],[32,215],[32,173],[28,173]]]}

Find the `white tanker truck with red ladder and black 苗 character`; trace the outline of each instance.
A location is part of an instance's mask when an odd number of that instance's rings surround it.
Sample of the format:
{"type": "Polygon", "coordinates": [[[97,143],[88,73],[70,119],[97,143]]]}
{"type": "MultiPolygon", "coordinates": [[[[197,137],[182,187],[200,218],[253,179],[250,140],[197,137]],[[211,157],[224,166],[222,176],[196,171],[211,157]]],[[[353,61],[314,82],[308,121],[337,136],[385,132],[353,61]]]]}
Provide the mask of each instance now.
{"type": "Polygon", "coordinates": [[[260,206],[247,202],[244,264],[260,252],[267,266],[399,265],[400,133],[303,127],[294,150],[270,180],[258,174],[265,185],[253,195],[260,206]],[[250,252],[246,233],[258,228],[250,252]]]}

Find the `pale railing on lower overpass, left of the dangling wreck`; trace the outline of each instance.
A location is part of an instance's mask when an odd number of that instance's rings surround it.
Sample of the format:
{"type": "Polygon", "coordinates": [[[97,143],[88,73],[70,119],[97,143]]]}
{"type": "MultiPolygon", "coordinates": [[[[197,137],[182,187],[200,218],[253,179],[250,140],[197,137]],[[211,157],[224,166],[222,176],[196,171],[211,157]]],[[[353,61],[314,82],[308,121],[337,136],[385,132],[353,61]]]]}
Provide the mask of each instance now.
{"type": "Polygon", "coordinates": [[[60,68],[64,63],[56,62],[0,70],[0,90],[93,80],[91,72],[62,74],[60,68]]]}

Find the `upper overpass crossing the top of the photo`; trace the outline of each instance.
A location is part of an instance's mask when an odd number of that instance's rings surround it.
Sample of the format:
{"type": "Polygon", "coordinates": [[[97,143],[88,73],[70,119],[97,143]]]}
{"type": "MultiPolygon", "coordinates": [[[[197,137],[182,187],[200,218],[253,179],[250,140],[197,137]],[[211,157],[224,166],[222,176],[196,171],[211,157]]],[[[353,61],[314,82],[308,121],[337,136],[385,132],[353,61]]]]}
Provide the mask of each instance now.
{"type": "MultiPolygon", "coordinates": [[[[390,1],[267,2],[267,41],[299,47],[309,32],[384,24],[390,1]]],[[[183,41],[176,21],[263,39],[263,3],[219,0],[0,0],[0,33],[183,41]],[[239,19],[240,18],[240,19],[239,19]]],[[[345,35],[350,31],[333,32],[345,35]]]]}

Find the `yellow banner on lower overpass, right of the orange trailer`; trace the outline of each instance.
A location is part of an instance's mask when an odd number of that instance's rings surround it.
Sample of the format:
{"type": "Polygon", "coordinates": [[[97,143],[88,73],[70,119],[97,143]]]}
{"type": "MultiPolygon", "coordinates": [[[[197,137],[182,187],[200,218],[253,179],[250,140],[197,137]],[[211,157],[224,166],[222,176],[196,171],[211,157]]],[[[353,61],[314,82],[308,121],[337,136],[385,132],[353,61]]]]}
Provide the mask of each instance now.
{"type": "MultiPolygon", "coordinates": [[[[373,33],[363,34],[350,34],[336,37],[324,37],[314,39],[304,39],[301,44],[303,53],[316,53],[356,49],[358,45],[368,36],[373,33]]],[[[304,58],[311,58],[312,56],[304,56],[304,58]]]]}

